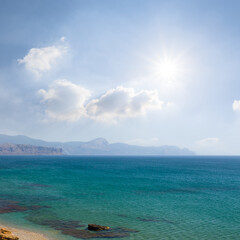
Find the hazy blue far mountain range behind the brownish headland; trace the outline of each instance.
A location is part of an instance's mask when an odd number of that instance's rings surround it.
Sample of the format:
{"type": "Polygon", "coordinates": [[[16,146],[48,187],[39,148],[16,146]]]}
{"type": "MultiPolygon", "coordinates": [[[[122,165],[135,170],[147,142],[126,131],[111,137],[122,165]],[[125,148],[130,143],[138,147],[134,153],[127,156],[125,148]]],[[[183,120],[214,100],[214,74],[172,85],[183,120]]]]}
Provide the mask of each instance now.
{"type": "Polygon", "coordinates": [[[186,148],[176,146],[142,147],[125,143],[108,143],[104,138],[97,138],[89,142],[46,142],[27,136],[8,136],[0,134],[0,144],[29,144],[32,146],[61,148],[67,155],[193,155],[186,148]]]}

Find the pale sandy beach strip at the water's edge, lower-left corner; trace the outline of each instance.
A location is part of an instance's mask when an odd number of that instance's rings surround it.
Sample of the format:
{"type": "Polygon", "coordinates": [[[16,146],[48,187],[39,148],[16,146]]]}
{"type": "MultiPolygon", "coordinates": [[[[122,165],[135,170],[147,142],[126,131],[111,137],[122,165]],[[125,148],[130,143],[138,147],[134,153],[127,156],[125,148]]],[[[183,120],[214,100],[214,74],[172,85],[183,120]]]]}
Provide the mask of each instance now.
{"type": "Polygon", "coordinates": [[[3,228],[10,231],[15,237],[18,237],[19,240],[53,240],[49,237],[46,237],[42,233],[29,231],[23,228],[16,228],[0,223],[0,229],[3,228]]]}

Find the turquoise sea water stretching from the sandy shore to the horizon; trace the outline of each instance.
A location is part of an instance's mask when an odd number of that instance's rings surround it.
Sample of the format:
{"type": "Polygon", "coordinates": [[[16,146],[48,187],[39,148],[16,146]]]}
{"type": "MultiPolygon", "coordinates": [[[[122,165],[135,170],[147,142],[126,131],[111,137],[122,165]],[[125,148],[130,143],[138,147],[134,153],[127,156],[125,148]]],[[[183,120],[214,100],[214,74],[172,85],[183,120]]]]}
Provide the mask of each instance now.
{"type": "Polygon", "coordinates": [[[126,240],[240,239],[240,157],[2,156],[0,213],[55,239],[88,223],[126,240]]]}

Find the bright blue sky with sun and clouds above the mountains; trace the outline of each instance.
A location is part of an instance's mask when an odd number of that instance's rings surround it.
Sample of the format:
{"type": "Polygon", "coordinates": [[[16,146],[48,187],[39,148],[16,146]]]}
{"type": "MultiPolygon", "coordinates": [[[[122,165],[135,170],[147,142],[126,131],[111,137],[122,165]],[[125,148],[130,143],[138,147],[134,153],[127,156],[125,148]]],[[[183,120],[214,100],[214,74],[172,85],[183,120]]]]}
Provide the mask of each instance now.
{"type": "Polygon", "coordinates": [[[0,0],[0,133],[240,154],[240,1],[0,0]]]}

